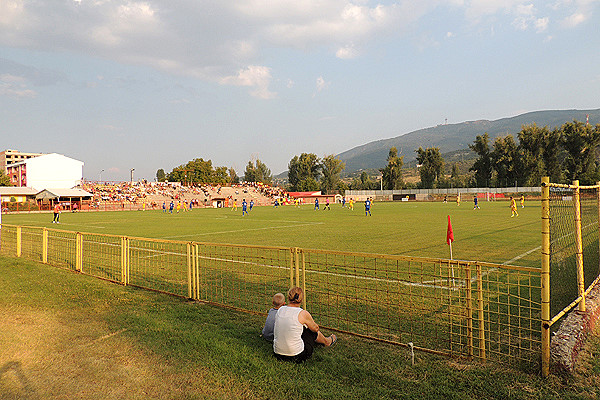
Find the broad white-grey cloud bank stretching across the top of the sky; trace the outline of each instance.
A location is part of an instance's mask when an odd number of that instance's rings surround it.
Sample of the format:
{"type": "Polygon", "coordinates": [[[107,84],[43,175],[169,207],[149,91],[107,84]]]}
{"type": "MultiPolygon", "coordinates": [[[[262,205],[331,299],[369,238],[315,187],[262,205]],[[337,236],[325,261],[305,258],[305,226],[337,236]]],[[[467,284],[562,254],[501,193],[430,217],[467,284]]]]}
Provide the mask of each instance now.
{"type": "MultiPolygon", "coordinates": [[[[567,27],[591,18],[598,4],[556,1],[552,21],[567,27]]],[[[508,18],[516,29],[545,32],[550,19],[538,15],[542,7],[553,9],[541,0],[0,0],[0,46],[144,65],[247,86],[268,99],[277,71],[248,66],[265,65],[262,57],[273,49],[325,49],[352,59],[368,54],[375,41],[421,36],[422,20],[441,8],[463,11],[469,23],[490,29],[494,19],[508,18]]]]}

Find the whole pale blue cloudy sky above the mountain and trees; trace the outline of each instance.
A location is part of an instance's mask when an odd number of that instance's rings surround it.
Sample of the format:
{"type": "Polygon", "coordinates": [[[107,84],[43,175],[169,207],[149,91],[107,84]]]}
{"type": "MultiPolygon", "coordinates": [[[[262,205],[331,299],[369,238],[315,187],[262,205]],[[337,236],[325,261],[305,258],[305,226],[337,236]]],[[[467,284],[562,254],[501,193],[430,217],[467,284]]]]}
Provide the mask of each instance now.
{"type": "Polygon", "coordinates": [[[599,26],[600,0],[0,0],[0,151],[87,180],[196,158],[276,175],[446,121],[600,108],[599,26]]]}

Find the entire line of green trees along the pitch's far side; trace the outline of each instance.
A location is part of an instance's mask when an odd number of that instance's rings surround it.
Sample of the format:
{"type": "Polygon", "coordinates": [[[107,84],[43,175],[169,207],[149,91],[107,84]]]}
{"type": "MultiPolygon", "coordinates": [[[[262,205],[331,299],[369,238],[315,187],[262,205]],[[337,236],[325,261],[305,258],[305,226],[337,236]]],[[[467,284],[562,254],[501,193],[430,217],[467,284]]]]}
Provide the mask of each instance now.
{"type": "MultiPolygon", "coordinates": [[[[542,176],[549,176],[552,182],[578,179],[587,185],[600,180],[599,146],[600,125],[579,121],[552,130],[536,124],[524,125],[517,133],[517,140],[508,134],[491,142],[486,132],[469,145],[476,158],[468,171],[462,173],[458,163],[445,164],[438,147],[416,149],[418,183],[405,181],[404,156],[395,147],[389,150],[384,168],[371,173],[362,171],[345,179],[341,178],[345,164],[334,155],[319,158],[314,153],[302,153],[288,163],[287,189],[343,193],[348,189],[537,186],[542,176]]],[[[214,168],[210,160],[202,158],[175,167],[168,174],[160,169],[156,177],[158,181],[187,184],[232,184],[241,180],[233,168],[214,168]]],[[[248,162],[243,180],[272,184],[273,176],[257,159],[248,162]]]]}

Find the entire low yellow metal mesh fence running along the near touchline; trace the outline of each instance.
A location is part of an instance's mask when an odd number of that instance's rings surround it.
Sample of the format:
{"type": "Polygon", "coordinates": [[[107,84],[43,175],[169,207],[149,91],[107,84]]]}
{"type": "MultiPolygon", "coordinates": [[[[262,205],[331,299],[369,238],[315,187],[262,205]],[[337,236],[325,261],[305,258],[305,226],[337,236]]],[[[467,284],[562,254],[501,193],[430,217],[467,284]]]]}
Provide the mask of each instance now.
{"type": "Polygon", "coordinates": [[[537,268],[1,227],[2,255],[252,313],[298,285],[325,328],[527,369],[540,363],[537,268]]]}

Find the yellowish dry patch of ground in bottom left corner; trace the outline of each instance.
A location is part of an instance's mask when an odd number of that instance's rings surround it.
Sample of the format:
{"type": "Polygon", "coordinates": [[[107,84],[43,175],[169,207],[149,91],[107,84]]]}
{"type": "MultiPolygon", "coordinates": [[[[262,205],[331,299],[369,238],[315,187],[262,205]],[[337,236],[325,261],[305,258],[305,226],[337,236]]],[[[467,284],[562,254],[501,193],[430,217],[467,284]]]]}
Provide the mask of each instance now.
{"type": "Polygon", "coordinates": [[[0,306],[0,349],[0,399],[247,397],[222,375],[177,370],[125,329],[68,313],[0,306]]]}

